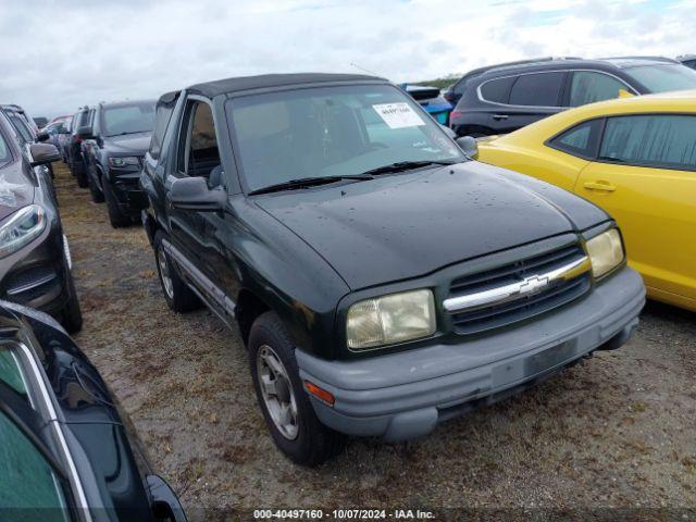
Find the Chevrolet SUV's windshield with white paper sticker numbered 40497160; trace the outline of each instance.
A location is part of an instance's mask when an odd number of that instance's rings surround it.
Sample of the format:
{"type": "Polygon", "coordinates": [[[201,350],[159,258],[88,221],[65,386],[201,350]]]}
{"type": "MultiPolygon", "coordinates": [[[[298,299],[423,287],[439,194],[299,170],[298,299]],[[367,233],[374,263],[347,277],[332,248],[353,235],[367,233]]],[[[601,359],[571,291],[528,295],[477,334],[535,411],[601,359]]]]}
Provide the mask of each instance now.
{"type": "Polygon", "coordinates": [[[465,159],[417,102],[389,85],[299,89],[227,103],[250,190],[399,162],[465,159]]]}

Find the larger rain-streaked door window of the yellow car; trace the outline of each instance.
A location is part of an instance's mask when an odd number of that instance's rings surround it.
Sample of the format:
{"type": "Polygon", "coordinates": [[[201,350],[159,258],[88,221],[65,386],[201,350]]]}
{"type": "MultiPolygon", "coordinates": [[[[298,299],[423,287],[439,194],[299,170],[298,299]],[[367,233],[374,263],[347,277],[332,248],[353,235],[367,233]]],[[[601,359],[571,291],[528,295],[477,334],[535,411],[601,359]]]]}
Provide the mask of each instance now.
{"type": "Polygon", "coordinates": [[[610,117],[599,158],[638,166],[696,170],[696,116],[648,114],[610,117]]]}

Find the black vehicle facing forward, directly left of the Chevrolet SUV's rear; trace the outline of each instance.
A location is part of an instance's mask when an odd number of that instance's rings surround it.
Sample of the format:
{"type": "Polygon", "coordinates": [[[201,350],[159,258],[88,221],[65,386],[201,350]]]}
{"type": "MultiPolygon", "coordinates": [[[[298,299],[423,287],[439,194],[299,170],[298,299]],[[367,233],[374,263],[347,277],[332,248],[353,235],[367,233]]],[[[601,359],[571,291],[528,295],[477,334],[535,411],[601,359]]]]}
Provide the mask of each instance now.
{"type": "Polygon", "coordinates": [[[154,100],[142,100],[100,103],[92,123],[77,128],[92,200],[105,199],[113,227],[133,223],[147,207],[139,177],[153,125],[154,100]]]}

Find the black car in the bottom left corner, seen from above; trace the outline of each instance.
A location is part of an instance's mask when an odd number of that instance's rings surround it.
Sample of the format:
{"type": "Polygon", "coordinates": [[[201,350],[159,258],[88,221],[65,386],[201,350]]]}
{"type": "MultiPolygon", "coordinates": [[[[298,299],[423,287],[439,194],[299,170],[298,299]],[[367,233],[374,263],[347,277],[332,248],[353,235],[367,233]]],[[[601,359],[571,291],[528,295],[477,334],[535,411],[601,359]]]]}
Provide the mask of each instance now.
{"type": "Polygon", "coordinates": [[[184,521],[97,369],[50,316],[0,301],[4,521],[184,521]]]}

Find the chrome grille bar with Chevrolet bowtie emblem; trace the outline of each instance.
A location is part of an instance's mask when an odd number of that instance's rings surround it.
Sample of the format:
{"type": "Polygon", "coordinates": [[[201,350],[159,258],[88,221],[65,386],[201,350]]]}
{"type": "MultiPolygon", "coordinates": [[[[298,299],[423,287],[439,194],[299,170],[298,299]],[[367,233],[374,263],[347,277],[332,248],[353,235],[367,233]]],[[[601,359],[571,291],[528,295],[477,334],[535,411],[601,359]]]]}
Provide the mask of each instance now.
{"type": "Polygon", "coordinates": [[[567,281],[577,277],[592,270],[592,263],[587,256],[583,256],[571,263],[560,266],[545,274],[532,275],[524,281],[499,286],[489,290],[476,291],[458,297],[450,297],[443,301],[443,307],[448,313],[459,313],[490,304],[501,304],[514,301],[522,297],[543,291],[556,281],[567,281]]]}

